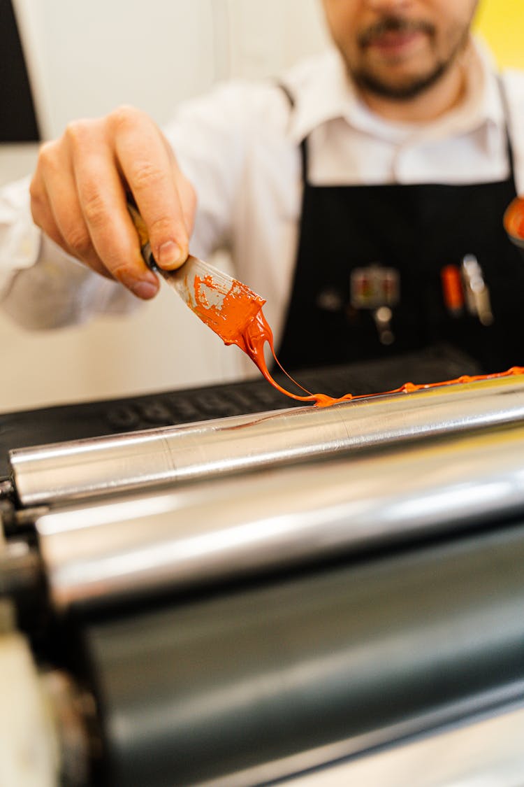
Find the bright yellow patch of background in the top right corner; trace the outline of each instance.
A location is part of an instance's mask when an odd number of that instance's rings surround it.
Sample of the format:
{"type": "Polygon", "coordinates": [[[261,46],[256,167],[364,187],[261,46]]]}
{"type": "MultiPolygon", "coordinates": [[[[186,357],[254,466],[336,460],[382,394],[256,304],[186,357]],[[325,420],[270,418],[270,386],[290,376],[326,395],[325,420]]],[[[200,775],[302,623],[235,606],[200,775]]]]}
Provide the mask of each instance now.
{"type": "Polygon", "coordinates": [[[500,68],[524,68],[524,0],[481,0],[475,29],[500,68]]]}

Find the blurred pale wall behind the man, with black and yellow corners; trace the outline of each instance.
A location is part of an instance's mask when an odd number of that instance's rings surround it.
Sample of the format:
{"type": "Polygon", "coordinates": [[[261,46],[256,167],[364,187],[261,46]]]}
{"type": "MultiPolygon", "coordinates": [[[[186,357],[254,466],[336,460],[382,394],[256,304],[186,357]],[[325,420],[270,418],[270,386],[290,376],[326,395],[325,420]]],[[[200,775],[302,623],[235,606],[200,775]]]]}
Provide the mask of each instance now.
{"type": "MultiPolygon", "coordinates": [[[[122,103],[162,124],[178,102],[214,83],[277,76],[328,46],[320,0],[13,0],[13,6],[42,139],[60,135],[69,120],[122,103]]],[[[481,0],[477,29],[500,67],[524,67],[523,28],[522,0],[481,0]]],[[[0,79],[12,69],[0,51],[0,79]]],[[[0,185],[30,173],[37,150],[35,143],[0,145],[0,185]]],[[[240,351],[223,347],[169,291],[133,316],[60,331],[22,331],[0,314],[0,335],[0,412],[239,375],[240,351]]]]}

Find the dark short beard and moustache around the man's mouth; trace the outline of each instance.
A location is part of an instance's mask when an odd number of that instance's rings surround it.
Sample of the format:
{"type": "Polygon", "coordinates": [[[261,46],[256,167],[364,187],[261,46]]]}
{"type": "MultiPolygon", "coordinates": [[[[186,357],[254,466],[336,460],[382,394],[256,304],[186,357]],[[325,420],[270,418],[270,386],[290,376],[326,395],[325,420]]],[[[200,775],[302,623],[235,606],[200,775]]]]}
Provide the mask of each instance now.
{"type": "Polygon", "coordinates": [[[422,32],[426,35],[431,51],[435,53],[433,62],[426,69],[419,73],[394,77],[388,74],[386,68],[376,68],[373,63],[366,63],[365,57],[357,64],[346,60],[350,76],[357,87],[381,98],[390,98],[396,101],[409,101],[409,99],[416,98],[437,83],[456,61],[460,52],[464,50],[469,35],[469,25],[464,29],[455,30],[453,34],[449,35],[447,51],[439,56],[436,53],[437,31],[434,25],[423,20],[409,20],[390,14],[361,31],[357,36],[357,46],[361,52],[366,53],[368,47],[383,35],[389,33],[409,35],[414,32],[422,32]]]}

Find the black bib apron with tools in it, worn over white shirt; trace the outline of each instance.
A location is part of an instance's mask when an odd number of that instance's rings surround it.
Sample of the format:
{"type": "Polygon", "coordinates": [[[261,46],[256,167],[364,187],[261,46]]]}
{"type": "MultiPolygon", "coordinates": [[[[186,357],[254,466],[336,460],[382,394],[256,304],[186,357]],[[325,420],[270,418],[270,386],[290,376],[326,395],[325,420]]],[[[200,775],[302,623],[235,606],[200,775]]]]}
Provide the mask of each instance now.
{"type": "Polygon", "coordinates": [[[485,373],[524,365],[524,257],[502,224],[516,194],[509,137],[508,179],[473,185],[313,186],[307,140],[301,151],[298,254],[277,353],[284,368],[393,358],[440,343],[485,373]],[[492,324],[465,308],[457,316],[445,300],[442,268],[460,268],[466,255],[482,270],[492,324]],[[355,307],[351,296],[352,272],[375,264],[398,275],[390,344],[379,337],[376,313],[355,307]]]}

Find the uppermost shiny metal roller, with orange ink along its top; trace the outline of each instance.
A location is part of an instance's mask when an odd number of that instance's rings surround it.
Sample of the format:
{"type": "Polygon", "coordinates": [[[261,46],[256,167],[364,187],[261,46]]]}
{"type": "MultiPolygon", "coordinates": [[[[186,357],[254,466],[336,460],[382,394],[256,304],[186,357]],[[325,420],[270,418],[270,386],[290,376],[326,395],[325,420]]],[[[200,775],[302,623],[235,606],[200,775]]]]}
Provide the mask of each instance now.
{"type": "Polygon", "coordinates": [[[24,506],[145,490],[518,421],[524,377],[453,384],[10,452],[24,506]]]}

